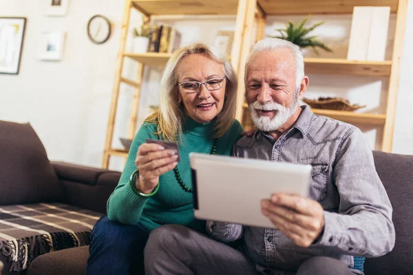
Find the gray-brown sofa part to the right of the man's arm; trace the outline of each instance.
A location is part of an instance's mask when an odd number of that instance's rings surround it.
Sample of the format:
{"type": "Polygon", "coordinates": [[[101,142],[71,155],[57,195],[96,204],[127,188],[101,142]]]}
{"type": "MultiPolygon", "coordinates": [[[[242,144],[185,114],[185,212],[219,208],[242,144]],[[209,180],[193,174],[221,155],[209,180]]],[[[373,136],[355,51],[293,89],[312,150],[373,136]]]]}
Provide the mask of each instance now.
{"type": "Polygon", "coordinates": [[[413,155],[373,154],[377,173],[392,203],[396,243],[389,254],[366,259],[365,273],[413,274],[413,155]]]}

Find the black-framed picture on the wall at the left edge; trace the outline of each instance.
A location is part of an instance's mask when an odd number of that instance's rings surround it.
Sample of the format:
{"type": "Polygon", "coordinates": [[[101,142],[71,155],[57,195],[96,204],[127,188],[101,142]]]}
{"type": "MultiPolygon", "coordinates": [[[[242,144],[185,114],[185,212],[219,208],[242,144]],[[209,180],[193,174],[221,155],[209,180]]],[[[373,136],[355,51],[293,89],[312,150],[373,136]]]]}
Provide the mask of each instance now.
{"type": "Polygon", "coordinates": [[[19,74],[25,18],[0,17],[0,74],[19,74]]]}

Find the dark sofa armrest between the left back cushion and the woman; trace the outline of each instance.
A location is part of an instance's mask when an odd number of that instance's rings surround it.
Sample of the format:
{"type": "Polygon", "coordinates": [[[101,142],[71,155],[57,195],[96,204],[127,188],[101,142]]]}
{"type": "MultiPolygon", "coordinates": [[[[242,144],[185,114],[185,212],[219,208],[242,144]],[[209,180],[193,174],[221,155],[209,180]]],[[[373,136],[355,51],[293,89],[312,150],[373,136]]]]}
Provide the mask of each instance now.
{"type": "Polygon", "coordinates": [[[52,166],[63,186],[63,202],[106,214],[106,203],[120,179],[120,173],[68,164],[52,162],[52,166]]]}

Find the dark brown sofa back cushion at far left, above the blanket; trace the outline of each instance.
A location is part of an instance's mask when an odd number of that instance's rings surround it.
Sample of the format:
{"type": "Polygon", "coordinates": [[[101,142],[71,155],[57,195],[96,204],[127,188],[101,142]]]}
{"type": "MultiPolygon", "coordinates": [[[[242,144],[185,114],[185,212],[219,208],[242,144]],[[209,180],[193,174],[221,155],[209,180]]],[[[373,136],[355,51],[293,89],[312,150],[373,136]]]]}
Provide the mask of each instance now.
{"type": "Polygon", "coordinates": [[[0,120],[0,205],[59,201],[62,187],[30,124],[0,120]]]}

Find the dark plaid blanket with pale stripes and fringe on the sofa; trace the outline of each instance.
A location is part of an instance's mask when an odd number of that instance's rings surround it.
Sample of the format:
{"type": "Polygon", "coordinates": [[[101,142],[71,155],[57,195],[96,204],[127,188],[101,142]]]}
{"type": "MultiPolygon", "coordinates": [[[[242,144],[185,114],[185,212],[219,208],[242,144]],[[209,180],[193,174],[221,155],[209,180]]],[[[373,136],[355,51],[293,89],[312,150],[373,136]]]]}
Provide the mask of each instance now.
{"type": "Polygon", "coordinates": [[[21,272],[41,254],[89,245],[101,216],[63,203],[0,206],[0,259],[21,272]]]}

